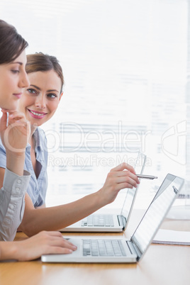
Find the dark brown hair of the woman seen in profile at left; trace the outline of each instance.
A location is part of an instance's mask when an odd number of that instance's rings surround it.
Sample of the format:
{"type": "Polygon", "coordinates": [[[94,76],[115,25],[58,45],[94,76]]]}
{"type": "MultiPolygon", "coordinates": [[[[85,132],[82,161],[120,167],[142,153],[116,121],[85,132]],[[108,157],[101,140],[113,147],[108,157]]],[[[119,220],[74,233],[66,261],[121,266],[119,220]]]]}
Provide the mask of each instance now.
{"type": "Polygon", "coordinates": [[[0,20],[0,65],[16,60],[27,46],[28,43],[18,34],[16,28],[0,20]]]}

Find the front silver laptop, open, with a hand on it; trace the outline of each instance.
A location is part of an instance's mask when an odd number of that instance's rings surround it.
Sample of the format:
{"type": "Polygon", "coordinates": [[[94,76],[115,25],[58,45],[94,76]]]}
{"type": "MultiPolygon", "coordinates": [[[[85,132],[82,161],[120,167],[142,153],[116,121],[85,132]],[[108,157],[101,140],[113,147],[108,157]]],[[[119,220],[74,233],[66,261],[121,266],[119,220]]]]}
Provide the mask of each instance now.
{"type": "Polygon", "coordinates": [[[184,179],[167,174],[130,240],[122,237],[72,236],[77,250],[67,255],[42,255],[42,262],[64,263],[135,263],[149,247],[184,179]]]}

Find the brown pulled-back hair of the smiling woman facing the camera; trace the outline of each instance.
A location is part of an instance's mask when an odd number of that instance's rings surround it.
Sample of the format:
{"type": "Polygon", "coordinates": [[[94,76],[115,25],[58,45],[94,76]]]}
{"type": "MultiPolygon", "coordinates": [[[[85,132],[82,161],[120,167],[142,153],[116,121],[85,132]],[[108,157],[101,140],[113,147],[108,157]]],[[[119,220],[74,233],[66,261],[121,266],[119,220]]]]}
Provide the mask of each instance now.
{"type": "Polygon", "coordinates": [[[45,55],[43,52],[36,52],[32,55],[27,55],[27,74],[32,72],[47,72],[49,70],[54,70],[57,73],[57,76],[60,77],[63,86],[65,82],[62,74],[62,67],[60,66],[60,63],[56,57],[52,55],[45,55]]]}

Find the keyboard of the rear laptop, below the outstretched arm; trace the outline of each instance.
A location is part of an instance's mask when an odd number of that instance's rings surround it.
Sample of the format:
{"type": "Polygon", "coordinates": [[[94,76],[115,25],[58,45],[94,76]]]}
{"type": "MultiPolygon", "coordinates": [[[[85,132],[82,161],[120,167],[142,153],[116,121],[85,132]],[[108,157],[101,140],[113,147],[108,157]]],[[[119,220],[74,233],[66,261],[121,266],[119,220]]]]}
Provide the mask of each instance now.
{"type": "Polygon", "coordinates": [[[84,226],[101,226],[113,227],[112,215],[90,215],[82,220],[82,227],[84,226]]]}

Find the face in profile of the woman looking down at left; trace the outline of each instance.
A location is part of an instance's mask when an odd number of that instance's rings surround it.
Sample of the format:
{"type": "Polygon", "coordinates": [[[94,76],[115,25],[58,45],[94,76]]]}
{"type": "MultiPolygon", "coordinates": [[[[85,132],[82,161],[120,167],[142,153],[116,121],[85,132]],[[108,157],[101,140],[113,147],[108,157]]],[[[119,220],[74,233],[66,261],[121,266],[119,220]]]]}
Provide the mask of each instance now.
{"type": "Polygon", "coordinates": [[[23,88],[29,85],[26,74],[25,50],[16,60],[0,65],[0,107],[15,111],[18,99],[23,94],[23,88]]]}

